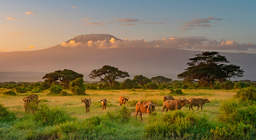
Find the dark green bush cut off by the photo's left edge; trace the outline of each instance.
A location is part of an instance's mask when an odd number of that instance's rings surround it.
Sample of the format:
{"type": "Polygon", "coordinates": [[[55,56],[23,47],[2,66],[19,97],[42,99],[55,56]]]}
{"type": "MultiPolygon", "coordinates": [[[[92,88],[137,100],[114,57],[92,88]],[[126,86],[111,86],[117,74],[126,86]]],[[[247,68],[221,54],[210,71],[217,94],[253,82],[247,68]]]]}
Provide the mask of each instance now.
{"type": "Polygon", "coordinates": [[[13,112],[10,112],[4,107],[4,104],[0,104],[0,122],[15,120],[16,116],[13,112]]]}

